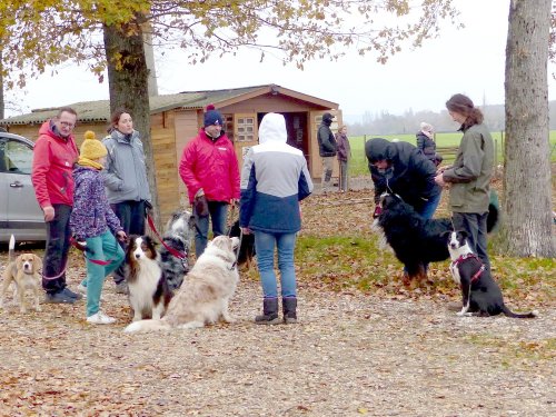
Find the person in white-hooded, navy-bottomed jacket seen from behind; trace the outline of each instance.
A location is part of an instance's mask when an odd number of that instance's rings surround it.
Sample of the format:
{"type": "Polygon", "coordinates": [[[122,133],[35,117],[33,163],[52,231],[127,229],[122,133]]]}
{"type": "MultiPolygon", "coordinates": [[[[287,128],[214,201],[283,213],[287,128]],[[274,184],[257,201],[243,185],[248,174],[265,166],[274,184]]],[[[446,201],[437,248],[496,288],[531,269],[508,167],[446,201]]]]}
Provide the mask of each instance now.
{"type": "Polygon", "coordinates": [[[259,127],[259,145],[249,149],[241,170],[239,225],[255,234],[257,266],[262,285],[262,315],[257,324],[274,325],[278,318],[278,288],[274,269],[278,250],[284,322],[297,321],[294,249],[301,229],[299,201],[312,192],[302,152],[286,143],[284,116],[268,113],[259,127]]]}

